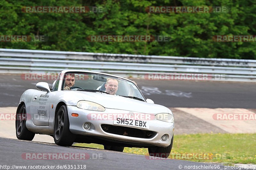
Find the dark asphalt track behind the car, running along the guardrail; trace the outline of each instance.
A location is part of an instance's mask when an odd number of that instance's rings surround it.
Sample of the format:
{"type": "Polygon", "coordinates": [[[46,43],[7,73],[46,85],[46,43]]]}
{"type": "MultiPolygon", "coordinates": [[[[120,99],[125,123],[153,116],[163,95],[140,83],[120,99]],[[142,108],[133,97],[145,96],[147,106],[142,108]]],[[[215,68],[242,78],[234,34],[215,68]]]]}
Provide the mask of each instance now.
{"type": "MultiPolygon", "coordinates": [[[[21,94],[36,89],[40,80],[0,75],[0,107],[17,106],[21,94]]],[[[213,81],[139,80],[145,98],[166,107],[255,109],[256,83],[213,81]]],[[[53,81],[47,80],[49,85],[53,81]]]]}

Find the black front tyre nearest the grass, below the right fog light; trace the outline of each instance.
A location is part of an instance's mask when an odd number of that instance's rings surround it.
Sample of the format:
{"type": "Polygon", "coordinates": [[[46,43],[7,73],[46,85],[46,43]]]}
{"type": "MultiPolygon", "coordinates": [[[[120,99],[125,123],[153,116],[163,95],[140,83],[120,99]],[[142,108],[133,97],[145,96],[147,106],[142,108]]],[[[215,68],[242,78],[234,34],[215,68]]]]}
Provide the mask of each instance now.
{"type": "Polygon", "coordinates": [[[168,158],[172,151],[173,144],[173,136],[171,140],[171,144],[167,147],[153,146],[148,148],[149,156],[155,156],[160,158],[168,158]]]}

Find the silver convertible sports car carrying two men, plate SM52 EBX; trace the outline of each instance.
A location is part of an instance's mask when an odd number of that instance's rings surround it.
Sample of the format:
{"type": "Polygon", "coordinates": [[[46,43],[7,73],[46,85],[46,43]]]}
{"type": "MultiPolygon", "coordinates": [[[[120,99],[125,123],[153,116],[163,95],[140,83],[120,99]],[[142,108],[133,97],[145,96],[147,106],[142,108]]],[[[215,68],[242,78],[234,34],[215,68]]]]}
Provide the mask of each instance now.
{"type": "Polygon", "coordinates": [[[96,143],[123,152],[148,148],[167,158],[172,149],[172,111],[145,99],[134,81],[84,70],[64,70],[52,84],[26,90],[16,112],[16,136],[50,135],[61,146],[96,143]]]}

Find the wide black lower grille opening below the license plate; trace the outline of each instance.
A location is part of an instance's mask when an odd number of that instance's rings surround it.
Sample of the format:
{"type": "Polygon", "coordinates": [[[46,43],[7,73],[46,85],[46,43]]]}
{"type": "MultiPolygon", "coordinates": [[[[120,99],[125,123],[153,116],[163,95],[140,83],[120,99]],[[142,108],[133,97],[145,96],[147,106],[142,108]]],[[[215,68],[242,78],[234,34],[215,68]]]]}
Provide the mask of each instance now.
{"type": "Polygon", "coordinates": [[[154,131],[145,131],[136,128],[124,127],[124,126],[113,126],[109,124],[102,124],[101,128],[107,133],[113,133],[116,135],[124,135],[135,138],[153,138],[156,135],[154,131]]]}

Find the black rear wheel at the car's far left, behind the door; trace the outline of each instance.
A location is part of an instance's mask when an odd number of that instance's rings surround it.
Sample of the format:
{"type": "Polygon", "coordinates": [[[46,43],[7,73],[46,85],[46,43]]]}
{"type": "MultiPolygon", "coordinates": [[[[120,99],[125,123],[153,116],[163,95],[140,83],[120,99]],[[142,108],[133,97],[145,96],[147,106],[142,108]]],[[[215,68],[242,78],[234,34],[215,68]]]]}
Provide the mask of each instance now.
{"type": "Polygon", "coordinates": [[[16,137],[20,140],[33,140],[35,133],[29,131],[26,127],[27,112],[26,106],[23,104],[16,113],[15,127],[16,137]]]}

